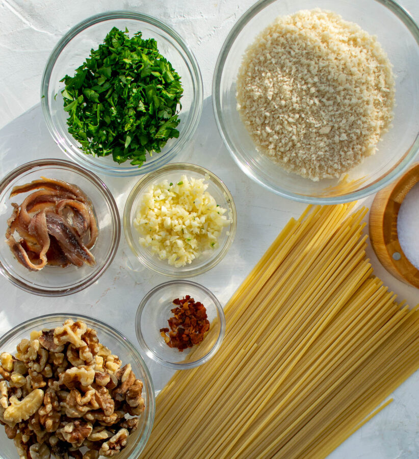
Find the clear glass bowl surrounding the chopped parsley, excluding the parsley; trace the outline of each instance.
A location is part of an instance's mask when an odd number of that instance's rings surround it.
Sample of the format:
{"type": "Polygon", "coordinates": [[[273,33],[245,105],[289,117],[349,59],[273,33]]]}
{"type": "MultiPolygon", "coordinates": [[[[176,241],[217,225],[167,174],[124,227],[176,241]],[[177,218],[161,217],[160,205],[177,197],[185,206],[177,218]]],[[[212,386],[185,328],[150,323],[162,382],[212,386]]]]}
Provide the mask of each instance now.
{"type": "Polygon", "coordinates": [[[185,148],[194,134],[202,111],[202,78],[198,63],[184,40],[168,25],[141,13],[114,11],[97,14],[75,25],[57,43],[49,56],[41,84],[41,103],[48,130],[58,146],[73,161],[96,172],[116,176],[133,176],[158,169],[185,148]],[[133,166],[129,161],[118,164],[112,155],[97,158],[79,148],[67,130],[67,112],[63,108],[60,80],[74,74],[90,50],[97,49],[113,27],[128,29],[130,36],[141,31],[143,38],[154,38],[160,53],[166,57],[181,77],[184,94],[180,99],[182,109],[177,126],[179,137],[170,139],[160,153],[147,154],[146,162],[133,166]],[[56,96],[57,94],[57,96],[56,96]]]}

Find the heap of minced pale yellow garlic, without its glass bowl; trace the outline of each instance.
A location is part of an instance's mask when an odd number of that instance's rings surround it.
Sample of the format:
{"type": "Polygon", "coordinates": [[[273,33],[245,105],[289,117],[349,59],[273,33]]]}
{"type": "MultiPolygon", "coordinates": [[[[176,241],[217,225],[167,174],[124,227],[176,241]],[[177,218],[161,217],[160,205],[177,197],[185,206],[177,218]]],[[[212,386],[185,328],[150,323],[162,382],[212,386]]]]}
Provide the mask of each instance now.
{"type": "Polygon", "coordinates": [[[175,267],[186,266],[205,250],[219,247],[230,224],[227,209],[206,191],[204,179],[182,175],[177,183],[153,184],[142,196],[134,227],[140,245],[175,267]]]}

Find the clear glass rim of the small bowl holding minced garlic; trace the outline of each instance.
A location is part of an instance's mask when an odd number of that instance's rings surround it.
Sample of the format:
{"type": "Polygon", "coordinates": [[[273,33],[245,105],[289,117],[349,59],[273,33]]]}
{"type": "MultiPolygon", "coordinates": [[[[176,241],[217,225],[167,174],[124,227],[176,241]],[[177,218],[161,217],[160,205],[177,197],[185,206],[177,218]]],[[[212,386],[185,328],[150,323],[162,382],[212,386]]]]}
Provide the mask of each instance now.
{"type": "MultiPolygon", "coordinates": [[[[230,211],[230,209],[228,209],[230,211]]],[[[129,248],[132,250],[134,255],[140,260],[140,262],[146,266],[147,268],[153,270],[154,272],[158,274],[163,274],[168,277],[176,277],[176,278],[182,278],[182,277],[194,277],[199,274],[202,274],[206,271],[209,271],[210,269],[214,268],[226,255],[228,252],[229,248],[231,247],[231,244],[234,241],[235,233],[237,231],[237,210],[235,208],[235,203],[234,199],[225,185],[225,183],[214,173],[209,171],[208,169],[205,169],[202,166],[198,166],[196,164],[191,164],[191,163],[170,163],[166,164],[165,166],[161,167],[160,169],[155,170],[154,172],[150,172],[147,175],[143,175],[140,180],[134,185],[133,189],[130,191],[126,202],[125,202],[125,207],[124,207],[124,212],[123,212],[123,227],[124,227],[124,234],[125,234],[125,240],[129,246],[129,248]],[[159,175],[164,175],[166,172],[170,171],[193,171],[193,172],[198,172],[202,175],[208,175],[211,177],[211,179],[214,181],[214,183],[219,187],[220,190],[222,190],[223,193],[226,194],[227,200],[230,203],[230,208],[231,208],[231,213],[232,213],[232,222],[230,224],[229,231],[230,234],[227,237],[227,240],[224,244],[224,246],[221,248],[220,252],[217,254],[216,257],[213,259],[209,259],[209,261],[202,266],[198,266],[194,269],[191,269],[190,271],[178,271],[176,272],[175,269],[172,269],[170,265],[168,265],[168,268],[160,268],[159,266],[151,263],[146,257],[143,256],[143,254],[135,249],[134,243],[133,243],[133,234],[132,234],[132,222],[130,221],[130,213],[134,204],[134,200],[136,196],[138,195],[139,192],[141,192],[144,188],[145,185],[150,183],[153,179],[156,177],[159,177],[159,175]]]]}

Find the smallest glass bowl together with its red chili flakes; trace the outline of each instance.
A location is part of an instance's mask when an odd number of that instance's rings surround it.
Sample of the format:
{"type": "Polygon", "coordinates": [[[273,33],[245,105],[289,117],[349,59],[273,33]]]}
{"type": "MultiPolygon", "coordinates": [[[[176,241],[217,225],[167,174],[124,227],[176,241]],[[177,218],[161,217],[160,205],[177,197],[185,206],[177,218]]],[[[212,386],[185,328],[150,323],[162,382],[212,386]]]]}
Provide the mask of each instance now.
{"type": "Polygon", "coordinates": [[[220,348],[225,334],[223,308],[215,295],[191,281],[169,281],[151,289],[136,316],[145,353],[175,370],[202,365],[220,348]]]}

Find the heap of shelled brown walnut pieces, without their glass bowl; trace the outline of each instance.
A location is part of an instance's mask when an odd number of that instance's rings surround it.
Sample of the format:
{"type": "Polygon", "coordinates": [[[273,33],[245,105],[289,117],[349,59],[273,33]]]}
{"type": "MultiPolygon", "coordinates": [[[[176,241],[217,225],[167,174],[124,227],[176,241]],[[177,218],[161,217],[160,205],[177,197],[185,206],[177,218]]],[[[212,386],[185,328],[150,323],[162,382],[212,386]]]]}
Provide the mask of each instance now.
{"type": "Polygon", "coordinates": [[[111,457],[144,411],[142,381],[81,321],[1,353],[0,376],[0,424],[20,459],[111,457]]]}

